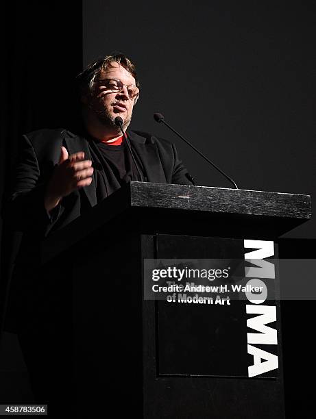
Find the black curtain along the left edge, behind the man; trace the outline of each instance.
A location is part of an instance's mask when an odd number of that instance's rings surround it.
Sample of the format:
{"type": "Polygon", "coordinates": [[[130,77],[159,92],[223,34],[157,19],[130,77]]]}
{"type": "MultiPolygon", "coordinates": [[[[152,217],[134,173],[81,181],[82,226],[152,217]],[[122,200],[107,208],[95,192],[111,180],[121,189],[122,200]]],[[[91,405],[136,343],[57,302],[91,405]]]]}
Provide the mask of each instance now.
{"type": "MultiPolygon", "coordinates": [[[[21,134],[67,127],[77,116],[73,79],[82,69],[82,2],[12,0],[3,6],[0,193],[6,196],[21,134]]],[[[1,318],[19,240],[1,219],[1,318]]],[[[1,390],[10,388],[10,374],[3,380],[2,372],[0,360],[1,390]]],[[[5,400],[1,391],[1,403],[8,402],[8,391],[5,400]]]]}

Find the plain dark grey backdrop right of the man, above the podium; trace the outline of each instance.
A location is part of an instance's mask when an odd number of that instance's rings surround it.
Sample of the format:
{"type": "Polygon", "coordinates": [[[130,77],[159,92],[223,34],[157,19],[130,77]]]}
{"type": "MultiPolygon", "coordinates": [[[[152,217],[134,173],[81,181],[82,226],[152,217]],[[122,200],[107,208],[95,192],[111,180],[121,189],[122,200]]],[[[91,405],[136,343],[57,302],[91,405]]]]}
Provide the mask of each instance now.
{"type": "MultiPolygon", "coordinates": [[[[284,1],[84,1],[84,64],[108,51],[138,66],[132,127],[169,138],[197,183],[230,183],[154,122],[171,125],[239,188],[312,194],[315,5],[284,1]]],[[[291,232],[316,238],[316,220],[291,232]]]]}

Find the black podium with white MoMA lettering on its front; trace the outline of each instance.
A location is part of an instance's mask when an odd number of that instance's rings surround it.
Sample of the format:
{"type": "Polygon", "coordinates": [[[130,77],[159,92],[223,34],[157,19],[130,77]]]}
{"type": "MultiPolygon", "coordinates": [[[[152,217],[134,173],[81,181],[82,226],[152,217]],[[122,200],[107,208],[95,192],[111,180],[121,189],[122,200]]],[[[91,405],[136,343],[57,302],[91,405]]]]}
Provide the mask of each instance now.
{"type": "Polygon", "coordinates": [[[283,418],[278,275],[260,304],[276,342],[256,344],[259,304],[147,299],[144,262],[244,259],[267,243],[278,257],[278,236],[309,218],[308,195],[131,182],[46,238],[39,312],[73,417],[283,418]],[[263,351],[274,368],[252,374],[263,351]]]}

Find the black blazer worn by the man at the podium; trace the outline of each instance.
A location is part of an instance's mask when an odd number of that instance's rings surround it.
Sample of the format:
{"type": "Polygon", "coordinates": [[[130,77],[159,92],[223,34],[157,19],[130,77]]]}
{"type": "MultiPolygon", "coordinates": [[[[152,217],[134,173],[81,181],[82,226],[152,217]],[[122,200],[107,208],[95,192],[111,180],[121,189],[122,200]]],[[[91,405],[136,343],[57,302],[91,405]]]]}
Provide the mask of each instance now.
{"type": "MultiPolygon", "coordinates": [[[[132,149],[143,164],[147,181],[191,185],[187,170],[178,158],[175,146],[141,131],[127,131],[132,149]]],[[[40,129],[24,135],[12,193],[5,203],[5,218],[15,231],[47,236],[80,216],[83,208],[97,203],[95,182],[65,196],[51,214],[44,206],[45,188],[60,158],[60,147],[70,154],[84,151],[91,159],[88,140],[66,129],[40,129]]]]}

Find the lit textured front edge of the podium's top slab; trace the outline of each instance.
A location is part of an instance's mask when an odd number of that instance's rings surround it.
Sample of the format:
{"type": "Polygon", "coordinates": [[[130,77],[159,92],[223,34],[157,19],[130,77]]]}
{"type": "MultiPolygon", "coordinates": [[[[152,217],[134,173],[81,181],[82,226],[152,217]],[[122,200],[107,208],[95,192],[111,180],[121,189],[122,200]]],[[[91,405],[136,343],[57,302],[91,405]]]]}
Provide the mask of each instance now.
{"type": "Polygon", "coordinates": [[[131,207],[311,218],[311,196],[259,190],[131,182],[131,207]]]}

